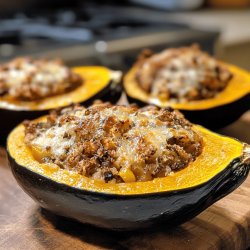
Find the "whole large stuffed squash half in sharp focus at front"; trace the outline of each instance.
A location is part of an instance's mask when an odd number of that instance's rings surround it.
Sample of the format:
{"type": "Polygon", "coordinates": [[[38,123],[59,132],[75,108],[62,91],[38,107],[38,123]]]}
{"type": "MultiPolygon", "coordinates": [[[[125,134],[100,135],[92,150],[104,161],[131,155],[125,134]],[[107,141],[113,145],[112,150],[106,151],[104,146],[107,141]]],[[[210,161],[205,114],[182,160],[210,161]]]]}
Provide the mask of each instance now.
{"type": "Polygon", "coordinates": [[[23,190],[56,214],[112,230],[182,223],[247,177],[250,147],[171,108],[68,107],[7,140],[23,190]]]}

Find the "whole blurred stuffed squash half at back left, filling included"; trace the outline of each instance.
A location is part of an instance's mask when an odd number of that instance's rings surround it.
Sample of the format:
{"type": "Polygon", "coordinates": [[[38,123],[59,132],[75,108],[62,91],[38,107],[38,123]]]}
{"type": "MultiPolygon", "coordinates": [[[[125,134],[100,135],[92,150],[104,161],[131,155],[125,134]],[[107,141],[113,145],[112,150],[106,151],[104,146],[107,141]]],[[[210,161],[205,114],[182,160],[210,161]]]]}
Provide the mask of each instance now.
{"type": "Polygon", "coordinates": [[[17,58],[0,65],[0,137],[24,119],[71,103],[120,97],[119,72],[105,67],[68,68],[60,60],[17,58]]]}

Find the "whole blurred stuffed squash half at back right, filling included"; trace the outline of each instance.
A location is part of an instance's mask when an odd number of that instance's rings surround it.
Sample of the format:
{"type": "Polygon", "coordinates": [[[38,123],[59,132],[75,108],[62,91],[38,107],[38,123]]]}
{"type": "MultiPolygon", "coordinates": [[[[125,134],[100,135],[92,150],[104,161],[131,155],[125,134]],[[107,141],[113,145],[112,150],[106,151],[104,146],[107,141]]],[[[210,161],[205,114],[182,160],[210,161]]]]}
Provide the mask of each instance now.
{"type": "Polygon", "coordinates": [[[191,122],[222,128],[250,108],[250,74],[198,46],[145,51],[124,77],[132,102],[170,106],[191,122]]]}

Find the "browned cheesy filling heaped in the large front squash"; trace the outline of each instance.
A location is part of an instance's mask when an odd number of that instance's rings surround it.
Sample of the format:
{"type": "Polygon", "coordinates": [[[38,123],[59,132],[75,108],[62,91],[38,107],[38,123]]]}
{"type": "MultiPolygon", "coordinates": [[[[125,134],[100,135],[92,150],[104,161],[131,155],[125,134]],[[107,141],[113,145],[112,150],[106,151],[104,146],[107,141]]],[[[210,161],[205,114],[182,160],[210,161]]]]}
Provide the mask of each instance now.
{"type": "Polygon", "coordinates": [[[114,183],[167,176],[187,167],[203,147],[201,135],[178,111],[109,103],[27,121],[25,143],[42,162],[114,183]]]}

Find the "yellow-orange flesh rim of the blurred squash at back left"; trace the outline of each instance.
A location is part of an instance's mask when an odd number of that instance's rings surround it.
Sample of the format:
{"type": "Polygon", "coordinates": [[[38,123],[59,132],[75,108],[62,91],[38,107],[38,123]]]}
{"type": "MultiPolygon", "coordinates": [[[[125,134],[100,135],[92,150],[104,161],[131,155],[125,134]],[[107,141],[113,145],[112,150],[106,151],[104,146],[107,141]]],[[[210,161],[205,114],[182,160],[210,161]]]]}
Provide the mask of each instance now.
{"type": "Polygon", "coordinates": [[[110,82],[110,70],[105,67],[83,66],[72,69],[83,78],[83,84],[78,88],[57,96],[51,96],[39,101],[17,101],[0,97],[0,108],[14,110],[48,110],[67,106],[71,103],[81,103],[104,89],[110,82]]]}

